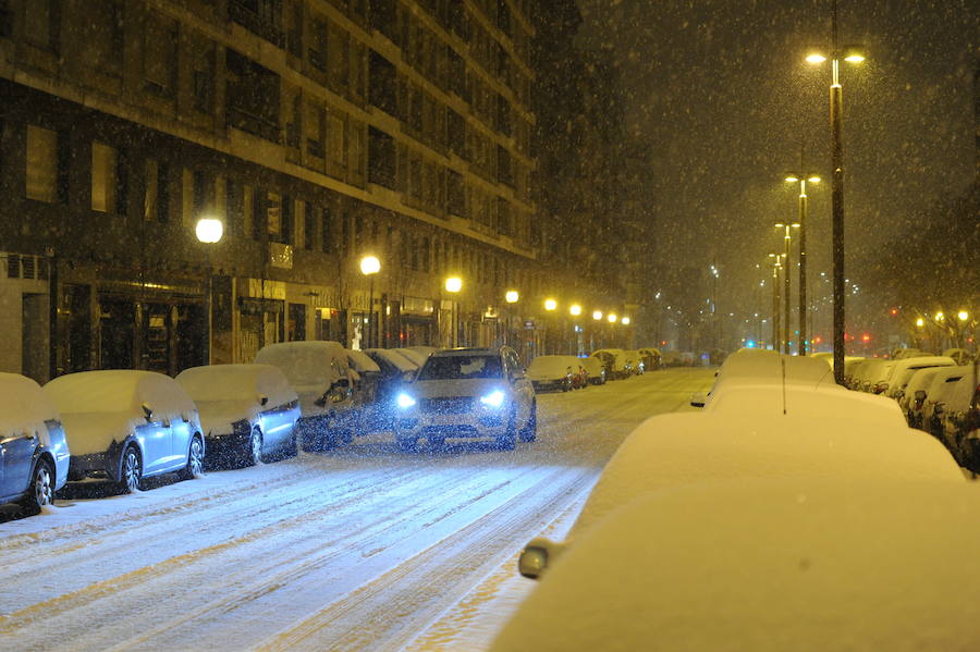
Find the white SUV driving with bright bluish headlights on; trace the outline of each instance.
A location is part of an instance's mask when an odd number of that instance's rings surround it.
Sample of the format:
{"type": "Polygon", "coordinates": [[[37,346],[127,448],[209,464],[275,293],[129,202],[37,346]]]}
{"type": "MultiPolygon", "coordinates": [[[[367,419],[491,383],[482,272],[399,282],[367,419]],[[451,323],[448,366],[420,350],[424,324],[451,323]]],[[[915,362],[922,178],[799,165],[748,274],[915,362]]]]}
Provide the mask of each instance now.
{"type": "Polygon", "coordinates": [[[395,441],[414,451],[419,439],[491,439],[504,450],[534,441],[537,401],[510,347],[440,350],[395,398],[395,441]]]}

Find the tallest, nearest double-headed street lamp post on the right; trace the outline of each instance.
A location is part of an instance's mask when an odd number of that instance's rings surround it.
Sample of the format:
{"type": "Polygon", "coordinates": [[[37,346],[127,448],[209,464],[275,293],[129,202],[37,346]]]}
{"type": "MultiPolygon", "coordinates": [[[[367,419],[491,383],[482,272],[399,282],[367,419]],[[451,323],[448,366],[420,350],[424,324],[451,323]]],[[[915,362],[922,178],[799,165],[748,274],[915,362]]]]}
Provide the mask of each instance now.
{"type": "MultiPolygon", "coordinates": [[[[844,96],[840,79],[841,59],[848,63],[865,60],[860,49],[848,46],[842,51],[837,47],[837,0],[833,0],[831,24],[830,87],[831,121],[831,213],[834,259],[834,380],[844,384],[844,96]]],[[[828,57],[821,52],[810,52],[808,63],[823,63],[828,57]]]]}

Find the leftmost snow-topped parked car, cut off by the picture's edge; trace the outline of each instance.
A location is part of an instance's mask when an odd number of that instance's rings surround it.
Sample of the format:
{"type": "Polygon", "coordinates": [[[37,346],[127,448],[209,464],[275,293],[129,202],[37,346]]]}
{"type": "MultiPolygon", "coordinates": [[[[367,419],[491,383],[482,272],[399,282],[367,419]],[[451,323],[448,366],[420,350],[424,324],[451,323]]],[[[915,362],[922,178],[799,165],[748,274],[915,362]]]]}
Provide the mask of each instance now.
{"type": "Polygon", "coordinates": [[[68,480],[69,455],[61,417],[40,385],[0,373],[0,503],[40,512],[68,480]]]}

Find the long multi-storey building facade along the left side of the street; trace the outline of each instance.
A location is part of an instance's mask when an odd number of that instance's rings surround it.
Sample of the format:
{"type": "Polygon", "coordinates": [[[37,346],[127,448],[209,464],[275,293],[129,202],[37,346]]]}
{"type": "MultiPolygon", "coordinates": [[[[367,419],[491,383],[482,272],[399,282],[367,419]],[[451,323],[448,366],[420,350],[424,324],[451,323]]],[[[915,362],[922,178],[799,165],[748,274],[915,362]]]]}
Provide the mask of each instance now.
{"type": "Polygon", "coordinates": [[[173,374],[317,339],[535,353],[529,9],[0,0],[0,370],[173,374]]]}

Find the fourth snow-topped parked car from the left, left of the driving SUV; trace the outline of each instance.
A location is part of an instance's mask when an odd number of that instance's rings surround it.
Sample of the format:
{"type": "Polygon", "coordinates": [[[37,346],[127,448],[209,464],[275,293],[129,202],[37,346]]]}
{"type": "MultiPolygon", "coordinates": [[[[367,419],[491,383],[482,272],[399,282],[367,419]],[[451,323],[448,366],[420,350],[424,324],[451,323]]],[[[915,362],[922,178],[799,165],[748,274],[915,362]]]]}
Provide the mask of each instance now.
{"type": "Polygon", "coordinates": [[[299,396],[299,441],[307,451],[350,443],[358,434],[360,404],[347,350],[338,342],[269,344],[255,358],[285,374],[299,396]]]}

